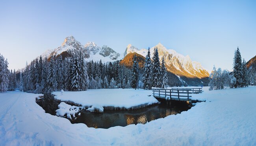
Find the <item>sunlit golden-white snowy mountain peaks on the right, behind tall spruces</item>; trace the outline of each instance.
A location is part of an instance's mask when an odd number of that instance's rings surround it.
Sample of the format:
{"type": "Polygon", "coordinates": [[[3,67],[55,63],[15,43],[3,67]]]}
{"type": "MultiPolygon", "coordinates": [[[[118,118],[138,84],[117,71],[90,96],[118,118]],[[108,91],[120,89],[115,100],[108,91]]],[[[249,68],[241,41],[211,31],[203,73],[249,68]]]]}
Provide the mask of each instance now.
{"type": "MultiPolygon", "coordinates": [[[[192,76],[196,76],[197,78],[205,78],[209,76],[208,71],[205,68],[203,68],[202,65],[197,61],[191,61],[189,55],[184,56],[182,54],[178,54],[175,50],[165,48],[165,46],[163,46],[161,43],[150,48],[151,57],[153,56],[155,47],[158,48],[160,61],[162,57],[164,57],[166,65],[169,66],[169,68],[167,67],[169,71],[175,73],[180,72],[180,75],[190,74],[192,76]],[[173,67],[176,70],[174,70],[173,67]]],[[[148,50],[139,50],[135,46],[128,44],[124,52],[124,56],[132,52],[143,55],[145,57],[147,55],[148,50]]]]}

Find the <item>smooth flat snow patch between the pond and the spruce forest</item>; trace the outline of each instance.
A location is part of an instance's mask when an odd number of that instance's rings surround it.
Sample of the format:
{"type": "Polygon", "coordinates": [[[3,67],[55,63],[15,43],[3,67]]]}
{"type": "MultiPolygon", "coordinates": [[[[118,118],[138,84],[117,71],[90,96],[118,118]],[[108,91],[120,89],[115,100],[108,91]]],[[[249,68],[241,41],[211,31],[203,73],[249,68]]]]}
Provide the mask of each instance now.
{"type": "Polygon", "coordinates": [[[126,109],[138,105],[158,103],[151,90],[135,89],[90,89],[87,91],[53,92],[54,98],[61,101],[71,101],[83,106],[124,107],[126,109]]]}

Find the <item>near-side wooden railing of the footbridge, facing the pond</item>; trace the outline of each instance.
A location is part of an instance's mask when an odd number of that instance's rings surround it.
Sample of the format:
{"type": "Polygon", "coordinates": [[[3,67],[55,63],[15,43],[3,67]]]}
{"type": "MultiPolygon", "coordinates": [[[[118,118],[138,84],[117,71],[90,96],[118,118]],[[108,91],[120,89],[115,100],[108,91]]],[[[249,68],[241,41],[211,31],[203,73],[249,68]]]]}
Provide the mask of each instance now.
{"type": "Polygon", "coordinates": [[[155,98],[164,98],[167,100],[190,100],[189,94],[192,93],[192,89],[159,89],[153,88],[153,96],[155,98]]]}

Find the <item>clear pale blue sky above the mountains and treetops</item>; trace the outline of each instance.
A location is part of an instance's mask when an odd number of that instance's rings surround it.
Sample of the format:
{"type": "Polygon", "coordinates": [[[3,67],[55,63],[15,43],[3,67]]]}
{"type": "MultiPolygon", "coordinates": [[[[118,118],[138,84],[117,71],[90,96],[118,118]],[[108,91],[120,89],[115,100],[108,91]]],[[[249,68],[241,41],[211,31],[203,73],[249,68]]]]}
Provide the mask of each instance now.
{"type": "Polygon", "coordinates": [[[0,3],[0,54],[22,68],[73,35],[123,53],[162,43],[208,70],[232,69],[239,46],[247,61],[256,55],[256,1],[34,0],[0,3]]]}

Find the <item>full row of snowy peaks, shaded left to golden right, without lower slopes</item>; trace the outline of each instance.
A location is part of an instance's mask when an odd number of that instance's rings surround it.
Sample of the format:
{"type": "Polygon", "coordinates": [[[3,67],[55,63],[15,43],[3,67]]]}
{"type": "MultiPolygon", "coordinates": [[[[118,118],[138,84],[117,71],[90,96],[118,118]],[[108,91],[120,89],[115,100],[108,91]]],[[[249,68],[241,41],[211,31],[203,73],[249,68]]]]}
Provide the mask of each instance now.
{"type": "MultiPolygon", "coordinates": [[[[151,56],[153,55],[154,48],[158,47],[158,53],[160,59],[164,57],[167,69],[178,76],[187,76],[187,77],[197,77],[205,78],[209,76],[208,71],[202,67],[202,65],[196,61],[191,61],[189,55],[184,56],[178,54],[175,50],[167,49],[161,43],[157,44],[150,48],[151,56]]],[[[139,50],[135,46],[128,44],[124,52],[124,56],[121,56],[119,53],[115,52],[112,48],[104,45],[102,47],[96,45],[94,42],[89,42],[84,46],[77,41],[73,36],[66,37],[61,46],[53,50],[47,50],[41,56],[43,58],[50,58],[54,55],[62,55],[63,57],[69,57],[73,54],[78,54],[82,52],[82,55],[85,57],[85,60],[90,61],[99,61],[100,59],[103,62],[113,62],[123,59],[129,53],[137,53],[142,56],[146,56],[148,50],[141,49],[139,50]]]]}

